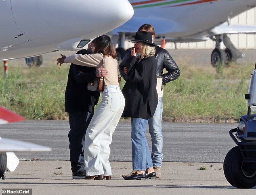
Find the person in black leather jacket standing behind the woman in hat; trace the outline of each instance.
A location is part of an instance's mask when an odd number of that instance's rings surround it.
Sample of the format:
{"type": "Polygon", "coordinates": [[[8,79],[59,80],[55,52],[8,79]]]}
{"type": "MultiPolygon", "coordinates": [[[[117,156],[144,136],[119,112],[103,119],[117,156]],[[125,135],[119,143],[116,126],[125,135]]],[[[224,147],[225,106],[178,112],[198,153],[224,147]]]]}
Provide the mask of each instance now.
{"type": "MultiPolygon", "coordinates": [[[[155,38],[155,29],[150,24],[144,24],[139,27],[138,31],[148,31],[153,34],[153,40],[155,38]]],[[[130,51],[127,52],[126,56],[123,58],[121,64],[119,65],[120,75],[127,81],[126,75],[126,60],[130,57],[130,51]]],[[[155,45],[155,59],[157,62],[157,75],[162,76],[162,85],[170,81],[178,79],[180,76],[180,69],[178,68],[176,62],[173,60],[172,56],[164,48],[155,45]],[[164,68],[166,73],[163,74],[164,68]]],[[[152,142],[152,154],[151,159],[153,161],[154,170],[157,174],[157,178],[162,178],[160,168],[162,166],[162,149],[163,149],[163,136],[162,136],[162,112],[163,112],[163,102],[162,102],[163,90],[160,93],[160,97],[157,104],[157,109],[153,118],[149,119],[149,133],[151,135],[152,142]]],[[[127,175],[129,176],[134,172],[134,170],[127,175]]]]}

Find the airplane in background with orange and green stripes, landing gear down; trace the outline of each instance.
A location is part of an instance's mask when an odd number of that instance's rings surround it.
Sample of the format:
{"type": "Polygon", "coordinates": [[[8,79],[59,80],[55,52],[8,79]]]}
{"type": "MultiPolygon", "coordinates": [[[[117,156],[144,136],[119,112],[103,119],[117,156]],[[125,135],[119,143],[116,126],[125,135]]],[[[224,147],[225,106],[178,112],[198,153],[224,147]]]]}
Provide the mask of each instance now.
{"type": "Polygon", "coordinates": [[[132,40],[142,24],[153,25],[155,43],[216,42],[211,63],[228,63],[243,57],[232,44],[229,34],[256,33],[256,26],[231,25],[230,19],[256,6],[256,0],[129,0],[134,8],[132,19],[109,34],[125,54],[125,41],[132,40]],[[226,23],[227,24],[224,24],[226,23]]]}

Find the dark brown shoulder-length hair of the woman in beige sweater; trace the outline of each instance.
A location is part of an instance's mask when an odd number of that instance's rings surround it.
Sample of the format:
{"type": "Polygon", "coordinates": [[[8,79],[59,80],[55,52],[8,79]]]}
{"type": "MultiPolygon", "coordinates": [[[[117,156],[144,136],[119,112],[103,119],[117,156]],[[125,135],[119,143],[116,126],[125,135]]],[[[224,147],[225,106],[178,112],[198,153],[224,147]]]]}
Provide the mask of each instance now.
{"type": "Polygon", "coordinates": [[[106,56],[116,58],[116,52],[113,42],[108,35],[101,35],[94,40],[94,53],[102,53],[106,56]]]}

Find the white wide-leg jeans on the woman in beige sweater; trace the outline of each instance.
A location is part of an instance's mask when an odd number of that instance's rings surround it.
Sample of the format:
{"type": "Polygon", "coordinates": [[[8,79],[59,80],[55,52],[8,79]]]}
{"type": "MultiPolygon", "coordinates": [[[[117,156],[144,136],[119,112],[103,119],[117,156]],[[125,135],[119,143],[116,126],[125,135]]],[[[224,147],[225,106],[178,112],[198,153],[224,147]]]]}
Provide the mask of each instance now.
{"type": "Polygon", "coordinates": [[[86,130],[84,161],[86,176],[112,175],[109,145],[124,110],[124,96],[119,85],[106,85],[102,100],[86,130]]]}

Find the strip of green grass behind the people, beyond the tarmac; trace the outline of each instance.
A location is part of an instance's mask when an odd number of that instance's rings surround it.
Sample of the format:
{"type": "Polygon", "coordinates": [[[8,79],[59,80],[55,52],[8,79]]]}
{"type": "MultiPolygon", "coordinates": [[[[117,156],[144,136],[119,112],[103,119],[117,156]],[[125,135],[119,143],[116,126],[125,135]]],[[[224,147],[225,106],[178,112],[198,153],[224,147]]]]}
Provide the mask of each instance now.
{"type": "MultiPolygon", "coordinates": [[[[162,114],[169,122],[237,122],[247,113],[254,64],[212,66],[178,62],[181,75],[164,88],[162,114]]],[[[27,119],[67,119],[64,97],[69,64],[42,67],[12,66],[0,74],[0,105],[27,119]]],[[[124,79],[120,87],[124,86],[124,79]]],[[[124,120],[123,118],[121,120],[124,120]]]]}

